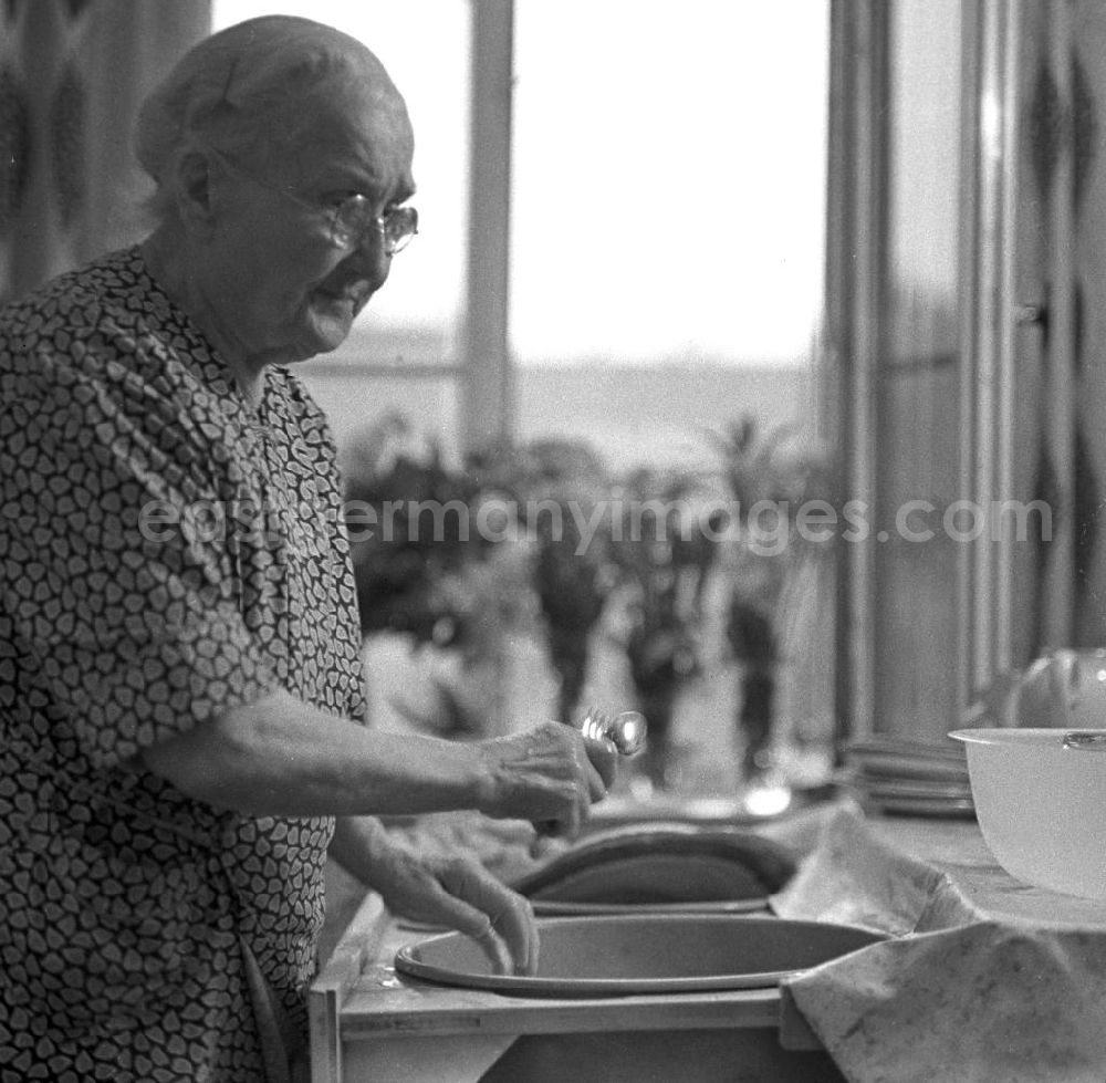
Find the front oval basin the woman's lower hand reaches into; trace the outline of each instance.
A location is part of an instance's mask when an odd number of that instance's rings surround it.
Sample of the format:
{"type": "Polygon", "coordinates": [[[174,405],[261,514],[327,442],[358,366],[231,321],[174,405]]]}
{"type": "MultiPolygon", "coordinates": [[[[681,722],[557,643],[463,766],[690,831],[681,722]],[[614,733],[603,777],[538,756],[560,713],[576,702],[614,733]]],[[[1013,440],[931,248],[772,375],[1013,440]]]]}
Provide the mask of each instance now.
{"type": "Polygon", "coordinates": [[[764,989],[885,939],[847,925],[734,914],[545,918],[534,976],[497,975],[459,933],[407,945],[396,969],[417,978],[522,996],[764,989]]]}

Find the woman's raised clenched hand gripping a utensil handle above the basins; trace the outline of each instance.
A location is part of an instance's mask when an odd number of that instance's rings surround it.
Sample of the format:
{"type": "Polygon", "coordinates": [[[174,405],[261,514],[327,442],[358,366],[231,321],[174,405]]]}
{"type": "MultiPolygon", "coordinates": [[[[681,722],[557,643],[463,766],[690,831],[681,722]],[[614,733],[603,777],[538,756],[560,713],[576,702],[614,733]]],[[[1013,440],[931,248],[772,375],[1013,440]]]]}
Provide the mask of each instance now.
{"type": "Polygon", "coordinates": [[[547,834],[575,837],[615,779],[614,747],[563,722],[543,722],[476,747],[486,768],[480,811],[529,820],[547,834]]]}

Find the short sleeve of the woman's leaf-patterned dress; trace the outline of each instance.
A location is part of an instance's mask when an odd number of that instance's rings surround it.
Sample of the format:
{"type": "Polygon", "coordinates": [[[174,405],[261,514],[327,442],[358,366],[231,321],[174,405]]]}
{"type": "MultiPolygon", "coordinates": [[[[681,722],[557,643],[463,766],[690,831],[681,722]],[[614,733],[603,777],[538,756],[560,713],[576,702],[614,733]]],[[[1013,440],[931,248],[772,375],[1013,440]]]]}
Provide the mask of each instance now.
{"type": "MultiPolygon", "coordinates": [[[[3,613],[97,767],[276,681],[239,607],[228,481],[171,399],[45,365],[0,407],[3,613]]],[[[226,457],[223,457],[226,458],[226,457]]]]}

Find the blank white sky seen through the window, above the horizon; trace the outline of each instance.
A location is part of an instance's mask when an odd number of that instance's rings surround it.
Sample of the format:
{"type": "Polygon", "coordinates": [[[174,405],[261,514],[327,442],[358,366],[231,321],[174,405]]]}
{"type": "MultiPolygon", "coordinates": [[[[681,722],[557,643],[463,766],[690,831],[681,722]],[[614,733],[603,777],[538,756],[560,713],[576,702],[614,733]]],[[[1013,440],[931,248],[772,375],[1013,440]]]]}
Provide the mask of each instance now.
{"type": "MultiPolygon", "coordinates": [[[[215,0],[305,14],[407,98],[421,232],[367,319],[456,321],[469,0],[215,0]]],[[[517,0],[512,346],[792,362],[821,306],[828,0],[517,0]]],[[[401,262],[400,262],[401,260],[401,262]]]]}

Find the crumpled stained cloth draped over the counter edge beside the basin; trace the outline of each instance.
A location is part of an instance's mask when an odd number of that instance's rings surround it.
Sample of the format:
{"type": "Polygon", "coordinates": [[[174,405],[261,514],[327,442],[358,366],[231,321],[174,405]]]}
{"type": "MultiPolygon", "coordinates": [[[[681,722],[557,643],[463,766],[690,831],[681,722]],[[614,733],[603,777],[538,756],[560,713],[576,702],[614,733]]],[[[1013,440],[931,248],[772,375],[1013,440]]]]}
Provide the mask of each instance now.
{"type": "Polygon", "coordinates": [[[851,1083],[1106,1080],[1106,913],[1098,927],[989,916],[848,809],[772,907],[891,934],[782,988],[851,1083]]]}

